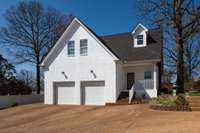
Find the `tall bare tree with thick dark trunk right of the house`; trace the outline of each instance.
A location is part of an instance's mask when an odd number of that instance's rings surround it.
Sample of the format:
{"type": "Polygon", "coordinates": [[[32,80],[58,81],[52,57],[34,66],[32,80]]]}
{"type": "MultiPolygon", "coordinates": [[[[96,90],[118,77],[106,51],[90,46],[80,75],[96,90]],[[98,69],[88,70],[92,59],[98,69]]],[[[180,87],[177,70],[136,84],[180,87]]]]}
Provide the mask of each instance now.
{"type": "MultiPolygon", "coordinates": [[[[177,91],[184,92],[184,43],[199,31],[199,3],[195,0],[139,0],[143,15],[175,39],[177,91]]],[[[170,49],[168,46],[166,46],[170,49]]],[[[170,56],[174,56],[173,53],[170,56]]]]}

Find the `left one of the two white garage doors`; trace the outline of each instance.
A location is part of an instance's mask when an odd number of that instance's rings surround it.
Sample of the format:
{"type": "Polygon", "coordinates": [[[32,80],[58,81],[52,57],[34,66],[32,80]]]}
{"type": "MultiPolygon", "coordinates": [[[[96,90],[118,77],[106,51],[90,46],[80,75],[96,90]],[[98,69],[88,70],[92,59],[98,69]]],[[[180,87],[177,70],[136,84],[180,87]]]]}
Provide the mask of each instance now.
{"type": "Polygon", "coordinates": [[[75,103],[75,83],[63,82],[57,83],[55,87],[55,103],[56,104],[74,104],[75,103]]]}

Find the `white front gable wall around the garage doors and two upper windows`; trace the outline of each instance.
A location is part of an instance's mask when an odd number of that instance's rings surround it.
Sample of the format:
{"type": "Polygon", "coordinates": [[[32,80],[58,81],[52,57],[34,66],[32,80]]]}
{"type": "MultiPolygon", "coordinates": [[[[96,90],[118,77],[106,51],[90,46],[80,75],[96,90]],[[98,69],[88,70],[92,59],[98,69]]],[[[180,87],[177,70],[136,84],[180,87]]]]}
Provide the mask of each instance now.
{"type": "Polygon", "coordinates": [[[53,103],[53,82],[75,81],[75,104],[80,104],[81,81],[105,81],[105,102],[116,100],[116,65],[111,55],[82,26],[75,25],[57,52],[52,54],[45,75],[45,103],[53,103]],[[80,56],[80,39],[88,39],[88,54],[80,56]],[[68,57],[67,42],[75,41],[75,56],[68,57]],[[91,70],[94,71],[94,78],[91,70]],[[67,79],[62,74],[65,72],[67,79]]]}

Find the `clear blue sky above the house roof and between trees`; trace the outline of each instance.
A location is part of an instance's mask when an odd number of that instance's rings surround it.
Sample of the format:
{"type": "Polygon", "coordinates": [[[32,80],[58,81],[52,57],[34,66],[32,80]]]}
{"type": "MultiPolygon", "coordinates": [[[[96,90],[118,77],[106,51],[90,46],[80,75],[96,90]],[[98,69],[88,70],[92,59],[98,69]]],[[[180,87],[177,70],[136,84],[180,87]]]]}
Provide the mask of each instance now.
{"type": "MultiPolygon", "coordinates": [[[[98,35],[131,31],[142,22],[137,0],[40,0],[45,7],[54,7],[64,14],[72,13],[98,35]]],[[[0,0],[0,27],[6,22],[3,14],[19,0],[0,0]]],[[[1,50],[2,51],[2,50],[1,50]]],[[[10,58],[3,50],[3,55],[10,58]]],[[[33,69],[30,65],[19,65],[17,69],[33,69]]]]}

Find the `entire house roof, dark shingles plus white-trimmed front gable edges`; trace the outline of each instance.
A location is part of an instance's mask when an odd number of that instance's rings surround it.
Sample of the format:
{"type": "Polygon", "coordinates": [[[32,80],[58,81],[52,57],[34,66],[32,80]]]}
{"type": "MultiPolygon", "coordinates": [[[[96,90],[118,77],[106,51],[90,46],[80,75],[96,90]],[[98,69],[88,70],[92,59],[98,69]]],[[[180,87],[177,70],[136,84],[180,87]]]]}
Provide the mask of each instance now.
{"type": "Polygon", "coordinates": [[[90,35],[92,35],[101,44],[101,46],[114,58],[114,60],[120,59],[122,61],[142,61],[149,59],[161,60],[162,58],[161,29],[146,30],[146,28],[143,25],[137,25],[134,31],[138,28],[138,26],[142,26],[147,32],[147,46],[134,48],[134,41],[132,36],[133,32],[98,36],[87,25],[85,25],[79,19],[74,18],[65,30],[65,32],[62,34],[60,39],[56,42],[56,44],[51,48],[47,56],[44,58],[41,66],[43,66],[45,62],[47,62],[50,55],[57,48],[59,43],[64,39],[67,32],[70,30],[70,28],[75,22],[78,22],[81,26],[83,26],[83,28],[86,29],[90,33],[90,35]]]}

